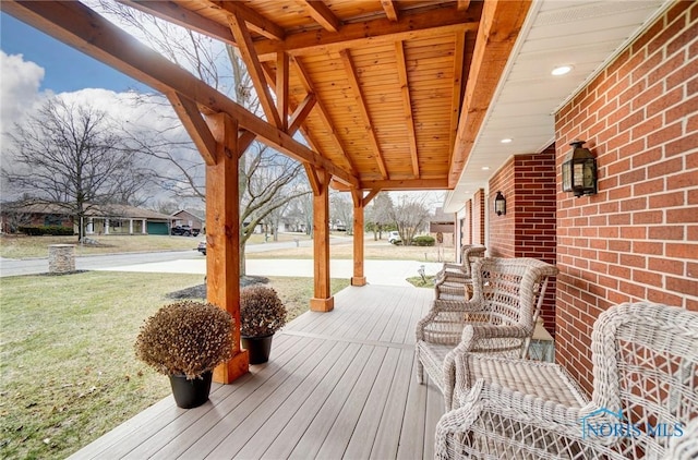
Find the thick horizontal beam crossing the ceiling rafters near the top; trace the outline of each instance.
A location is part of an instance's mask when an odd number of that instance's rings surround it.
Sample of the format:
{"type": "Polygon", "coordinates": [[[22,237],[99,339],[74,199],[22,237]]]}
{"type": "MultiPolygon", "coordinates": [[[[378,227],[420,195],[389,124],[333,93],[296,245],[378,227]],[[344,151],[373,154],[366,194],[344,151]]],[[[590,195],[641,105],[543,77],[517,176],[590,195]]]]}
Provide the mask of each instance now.
{"type": "Polygon", "coordinates": [[[384,45],[397,40],[429,38],[456,32],[477,31],[482,2],[476,2],[467,11],[454,8],[431,10],[422,14],[401,14],[397,22],[387,17],[345,24],[340,32],[303,31],[287,34],[280,40],[255,41],[257,56],[266,61],[275,59],[279,51],[291,56],[330,52],[352,46],[384,45]]]}

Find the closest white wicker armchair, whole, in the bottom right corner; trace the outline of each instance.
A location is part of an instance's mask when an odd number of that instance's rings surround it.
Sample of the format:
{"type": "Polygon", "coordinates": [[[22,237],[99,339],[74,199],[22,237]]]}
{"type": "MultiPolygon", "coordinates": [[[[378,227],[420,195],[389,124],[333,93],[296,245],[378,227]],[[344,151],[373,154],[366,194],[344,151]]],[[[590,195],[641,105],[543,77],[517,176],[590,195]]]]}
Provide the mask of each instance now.
{"type": "Polygon", "coordinates": [[[555,364],[462,356],[461,407],[440,420],[435,457],[696,459],[698,313],[611,307],[591,350],[591,401],[555,364]]]}

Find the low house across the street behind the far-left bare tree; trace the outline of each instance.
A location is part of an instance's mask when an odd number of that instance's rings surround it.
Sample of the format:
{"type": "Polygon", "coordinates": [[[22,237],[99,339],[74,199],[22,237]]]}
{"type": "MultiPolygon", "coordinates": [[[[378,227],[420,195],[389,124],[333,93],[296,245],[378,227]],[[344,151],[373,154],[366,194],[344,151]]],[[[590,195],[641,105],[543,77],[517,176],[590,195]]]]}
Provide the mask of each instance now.
{"type": "MultiPolygon", "coordinates": [[[[79,222],[58,204],[4,203],[0,211],[3,232],[20,226],[73,227],[79,222]]],[[[168,234],[170,216],[127,205],[93,206],[86,213],[86,234],[168,234]]]]}

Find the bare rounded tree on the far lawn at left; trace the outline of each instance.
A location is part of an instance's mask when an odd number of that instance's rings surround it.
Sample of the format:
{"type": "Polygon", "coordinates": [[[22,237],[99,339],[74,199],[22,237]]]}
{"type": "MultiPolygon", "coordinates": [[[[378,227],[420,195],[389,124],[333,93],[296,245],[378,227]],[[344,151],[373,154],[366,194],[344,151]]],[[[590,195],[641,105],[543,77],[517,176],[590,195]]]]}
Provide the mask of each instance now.
{"type": "Polygon", "coordinates": [[[65,210],[84,235],[86,213],[107,204],[143,201],[148,169],[104,111],[49,99],[10,134],[12,168],[3,179],[35,203],[65,210]]]}

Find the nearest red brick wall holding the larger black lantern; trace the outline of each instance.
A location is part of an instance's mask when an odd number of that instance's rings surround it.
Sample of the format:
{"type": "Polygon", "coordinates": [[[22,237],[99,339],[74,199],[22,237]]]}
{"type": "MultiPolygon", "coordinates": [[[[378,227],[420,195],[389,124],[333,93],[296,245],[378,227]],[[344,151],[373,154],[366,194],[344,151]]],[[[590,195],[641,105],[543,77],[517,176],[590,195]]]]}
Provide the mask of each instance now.
{"type": "Polygon", "coordinates": [[[698,2],[678,2],[556,114],[556,360],[592,388],[591,329],[613,304],[698,310],[698,2]],[[574,140],[599,193],[561,191],[574,140]]]}

